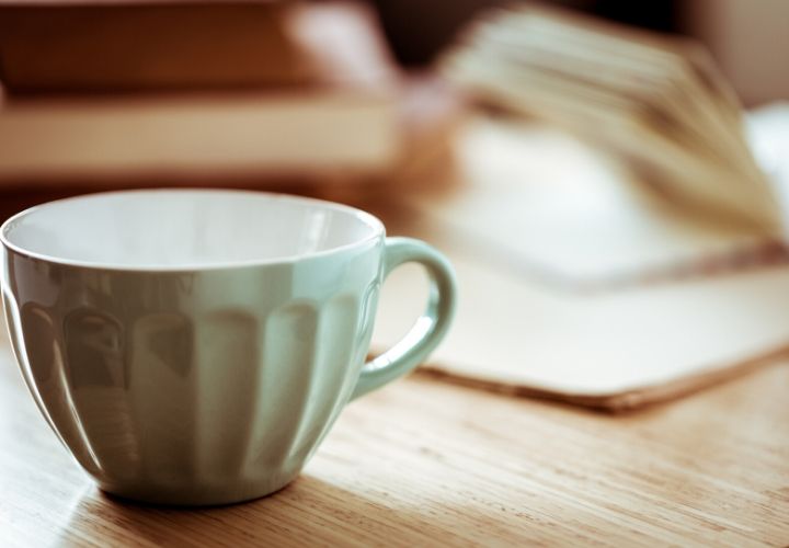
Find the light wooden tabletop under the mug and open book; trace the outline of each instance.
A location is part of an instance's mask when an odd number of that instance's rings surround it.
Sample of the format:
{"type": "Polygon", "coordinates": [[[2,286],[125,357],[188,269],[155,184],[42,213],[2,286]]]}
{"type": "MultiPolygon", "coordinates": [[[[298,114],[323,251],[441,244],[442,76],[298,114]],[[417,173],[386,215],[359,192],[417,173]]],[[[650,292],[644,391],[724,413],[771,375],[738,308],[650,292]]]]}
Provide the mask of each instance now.
{"type": "Polygon", "coordinates": [[[787,393],[789,363],[613,416],[416,374],[351,404],[279,493],[179,510],[100,492],[0,342],[0,545],[786,546],[787,393]]]}

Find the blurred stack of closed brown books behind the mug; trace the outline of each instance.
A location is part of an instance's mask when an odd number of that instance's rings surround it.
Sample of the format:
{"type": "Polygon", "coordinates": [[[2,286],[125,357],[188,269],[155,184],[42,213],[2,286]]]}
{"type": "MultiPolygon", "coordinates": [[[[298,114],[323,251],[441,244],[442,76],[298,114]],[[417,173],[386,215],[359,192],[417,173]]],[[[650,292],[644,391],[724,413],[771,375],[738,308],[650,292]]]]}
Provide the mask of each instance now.
{"type": "Polygon", "coordinates": [[[0,0],[0,184],[344,180],[400,155],[354,2],[0,0]]]}

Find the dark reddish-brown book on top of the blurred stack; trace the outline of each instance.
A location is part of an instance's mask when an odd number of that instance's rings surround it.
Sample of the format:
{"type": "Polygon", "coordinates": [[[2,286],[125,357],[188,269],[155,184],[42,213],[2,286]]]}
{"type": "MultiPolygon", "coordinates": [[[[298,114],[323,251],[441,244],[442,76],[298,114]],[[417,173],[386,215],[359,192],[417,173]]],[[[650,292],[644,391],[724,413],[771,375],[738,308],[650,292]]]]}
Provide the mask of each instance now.
{"type": "Polygon", "coordinates": [[[298,3],[0,0],[10,93],[254,88],[310,80],[298,3]]]}

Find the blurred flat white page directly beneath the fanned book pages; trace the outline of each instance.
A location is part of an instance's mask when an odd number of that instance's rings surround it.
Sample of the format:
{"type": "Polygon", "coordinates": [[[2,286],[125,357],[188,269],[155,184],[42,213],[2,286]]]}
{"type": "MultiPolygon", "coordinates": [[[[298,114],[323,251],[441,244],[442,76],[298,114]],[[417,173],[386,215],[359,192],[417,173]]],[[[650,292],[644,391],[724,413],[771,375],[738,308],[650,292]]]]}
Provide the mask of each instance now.
{"type": "Polygon", "coordinates": [[[472,121],[457,142],[460,182],[403,202],[453,240],[542,277],[594,286],[687,269],[769,244],[688,215],[628,181],[591,148],[540,125],[472,121]]]}

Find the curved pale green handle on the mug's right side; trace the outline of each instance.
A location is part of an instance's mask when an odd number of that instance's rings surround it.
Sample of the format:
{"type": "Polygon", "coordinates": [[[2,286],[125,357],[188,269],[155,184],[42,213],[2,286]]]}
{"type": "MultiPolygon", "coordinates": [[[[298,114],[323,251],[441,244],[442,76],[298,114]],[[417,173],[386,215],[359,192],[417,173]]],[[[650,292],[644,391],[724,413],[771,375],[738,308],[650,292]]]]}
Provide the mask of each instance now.
{"type": "Polygon", "coordinates": [[[427,271],[427,307],[395,346],[367,362],[351,399],[379,388],[416,367],[438,345],[455,313],[457,284],[449,261],[425,242],[413,238],[387,238],[384,279],[403,263],[420,263],[427,271]]]}

